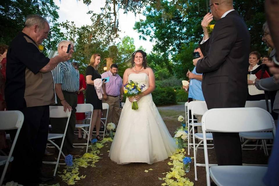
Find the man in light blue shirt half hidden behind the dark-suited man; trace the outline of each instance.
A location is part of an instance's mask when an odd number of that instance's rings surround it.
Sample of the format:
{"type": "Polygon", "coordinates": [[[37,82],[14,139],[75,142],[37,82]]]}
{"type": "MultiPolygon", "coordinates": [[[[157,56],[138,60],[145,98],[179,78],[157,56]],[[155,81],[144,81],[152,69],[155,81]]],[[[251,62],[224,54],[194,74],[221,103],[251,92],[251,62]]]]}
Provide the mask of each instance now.
{"type": "MultiPolygon", "coordinates": [[[[198,52],[201,58],[203,58],[200,47],[195,48],[194,52],[198,52]]],[[[190,79],[188,98],[192,98],[193,101],[204,101],[203,91],[201,90],[203,74],[196,73],[196,67],[194,67],[193,71],[188,71],[186,76],[190,79]]],[[[201,123],[202,116],[195,115],[195,117],[197,118],[197,122],[201,123]]],[[[198,126],[198,133],[202,132],[201,126],[198,126]]]]}

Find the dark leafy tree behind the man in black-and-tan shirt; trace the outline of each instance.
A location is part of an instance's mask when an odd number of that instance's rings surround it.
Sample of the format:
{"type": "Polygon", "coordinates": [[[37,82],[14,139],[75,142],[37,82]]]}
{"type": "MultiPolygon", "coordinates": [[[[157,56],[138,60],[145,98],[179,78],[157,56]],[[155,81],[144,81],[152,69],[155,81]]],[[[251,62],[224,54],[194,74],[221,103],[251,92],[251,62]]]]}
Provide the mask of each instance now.
{"type": "Polygon", "coordinates": [[[0,43],[9,45],[12,39],[22,31],[27,15],[39,14],[45,17],[51,25],[48,39],[43,42],[45,54],[47,50],[55,49],[57,44],[65,39],[60,31],[57,19],[58,6],[53,0],[5,0],[0,2],[0,43]]]}

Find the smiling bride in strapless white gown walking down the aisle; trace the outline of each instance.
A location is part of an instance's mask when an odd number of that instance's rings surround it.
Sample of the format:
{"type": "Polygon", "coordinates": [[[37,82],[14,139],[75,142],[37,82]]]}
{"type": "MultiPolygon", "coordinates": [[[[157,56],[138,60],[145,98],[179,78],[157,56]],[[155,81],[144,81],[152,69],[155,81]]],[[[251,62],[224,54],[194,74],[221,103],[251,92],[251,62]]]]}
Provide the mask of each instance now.
{"type": "Polygon", "coordinates": [[[117,164],[153,164],[167,159],[177,146],[153,103],[155,77],[146,67],[146,53],[134,52],[131,63],[133,68],[125,70],[123,84],[133,80],[146,86],[139,95],[126,99],[108,156],[117,164]],[[137,101],[137,110],[132,110],[133,100],[137,101]]]}

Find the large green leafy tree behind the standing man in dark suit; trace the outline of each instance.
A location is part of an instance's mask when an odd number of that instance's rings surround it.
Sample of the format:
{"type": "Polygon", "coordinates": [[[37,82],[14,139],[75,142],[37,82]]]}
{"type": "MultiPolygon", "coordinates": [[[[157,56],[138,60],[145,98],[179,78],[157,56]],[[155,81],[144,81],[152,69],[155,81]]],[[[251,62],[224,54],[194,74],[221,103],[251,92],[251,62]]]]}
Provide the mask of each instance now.
{"type": "MultiPolygon", "coordinates": [[[[251,33],[251,50],[261,53],[267,52],[261,41],[265,20],[263,3],[263,0],[234,1],[234,8],[244,18],[251,33]]],[[[158,4],[146,7],[143,12],[146,19],[136,22],[134,29],[142,39],[149,36],[150,41],[155,42],[153,52],[160,58],[153,60],[155,64],[160,63],[178,78],[185,78],[185,70],[193,69],[192,52],[203,35],[200,23],[208,11],[208,1],[161,0],[158,4]]]]}

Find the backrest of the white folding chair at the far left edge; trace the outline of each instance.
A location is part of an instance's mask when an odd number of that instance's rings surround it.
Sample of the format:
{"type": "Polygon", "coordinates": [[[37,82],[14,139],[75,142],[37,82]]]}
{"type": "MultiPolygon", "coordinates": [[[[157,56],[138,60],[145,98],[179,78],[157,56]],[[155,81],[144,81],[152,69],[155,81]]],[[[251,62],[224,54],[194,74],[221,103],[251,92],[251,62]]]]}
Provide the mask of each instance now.
{"type": "Polygon", "coordinates": [[[0,111],[0,130],[21,128],[24,115],[18,110],[0,111]]]}

